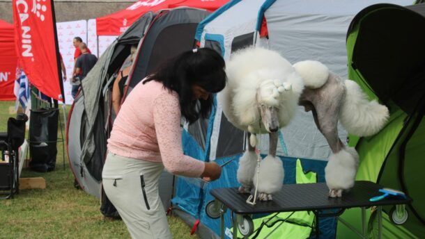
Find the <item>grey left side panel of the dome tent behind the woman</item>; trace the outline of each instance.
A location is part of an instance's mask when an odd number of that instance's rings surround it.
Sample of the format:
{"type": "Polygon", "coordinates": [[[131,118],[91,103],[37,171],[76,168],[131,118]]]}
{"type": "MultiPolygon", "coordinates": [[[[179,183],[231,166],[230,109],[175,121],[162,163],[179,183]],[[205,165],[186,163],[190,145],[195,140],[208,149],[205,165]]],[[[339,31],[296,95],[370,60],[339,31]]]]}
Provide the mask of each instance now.
{"type": "Polygon", "coordinates": [[[70,111],[67,129],[68,157],[79,186],[95,197],[100,197],[102,165],[105,159],[109,131],[109,79],[114,78],[125,58],[130,44],[138,44],[154,15],[140,17],[118,37],[102,54],[98,63],[82,81],[70,111]]]}

